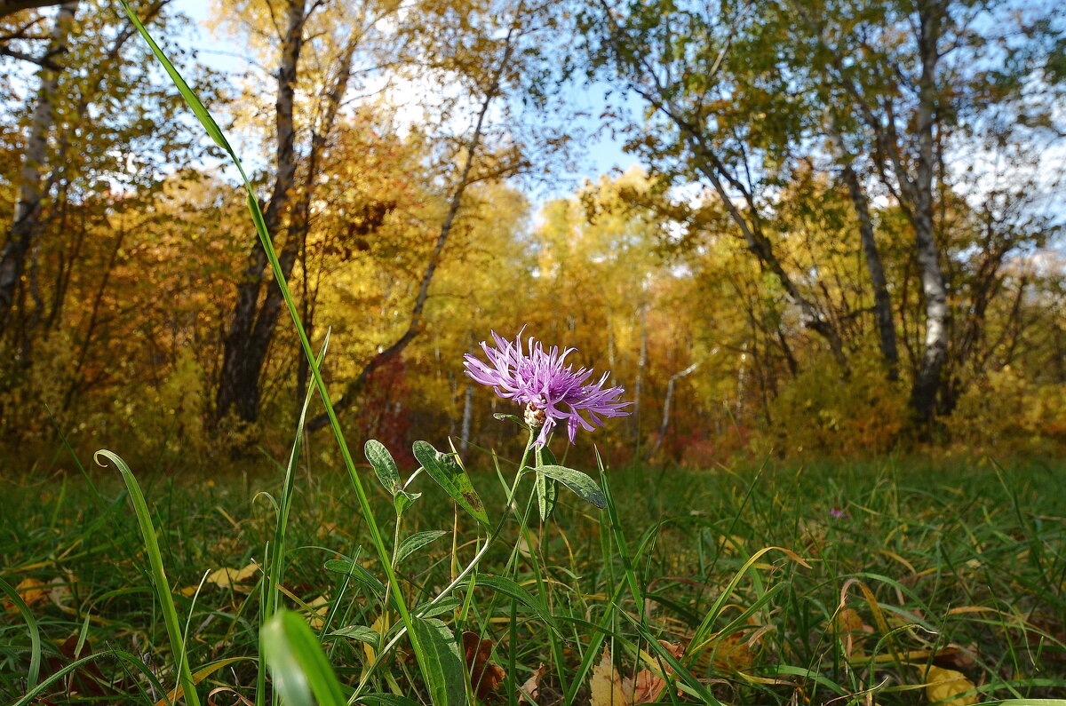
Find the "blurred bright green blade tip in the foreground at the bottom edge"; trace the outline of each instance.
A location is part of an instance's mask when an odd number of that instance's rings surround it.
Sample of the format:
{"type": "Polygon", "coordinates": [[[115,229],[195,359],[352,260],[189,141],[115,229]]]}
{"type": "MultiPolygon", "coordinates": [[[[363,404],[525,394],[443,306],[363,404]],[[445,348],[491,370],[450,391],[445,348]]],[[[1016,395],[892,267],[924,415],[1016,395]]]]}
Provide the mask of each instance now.
{"type": "Polygon", "coordinates": [[[259,636],[274,689],[286,706],[343,706],[344,694],[318,638],[304,619],[278,611],[259,636]]]}

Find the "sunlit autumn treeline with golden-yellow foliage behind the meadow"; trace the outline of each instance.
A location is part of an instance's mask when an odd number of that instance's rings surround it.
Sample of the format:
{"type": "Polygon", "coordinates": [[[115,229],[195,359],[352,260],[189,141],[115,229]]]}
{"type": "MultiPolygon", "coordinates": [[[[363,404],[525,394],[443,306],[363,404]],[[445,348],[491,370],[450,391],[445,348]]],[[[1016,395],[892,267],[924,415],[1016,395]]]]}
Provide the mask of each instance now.
{"type": "MultiPolygon", "coordinates": [[[[1066,443],[1066,39],[1043,4],[216,10],[244,76],[197,68],[176,4],[134,6],[258,146],[354,438],[512,443],[461,358],[526,326],[627,387],[591,439],[618,460],[1066,443]],[[608,90],[645,166],[534,208],[593,125],[575,86],[608,90]]],[[[308,371],[221,156],[111,3],[0,23],[4,443],[284,447],[308,371]]]]}

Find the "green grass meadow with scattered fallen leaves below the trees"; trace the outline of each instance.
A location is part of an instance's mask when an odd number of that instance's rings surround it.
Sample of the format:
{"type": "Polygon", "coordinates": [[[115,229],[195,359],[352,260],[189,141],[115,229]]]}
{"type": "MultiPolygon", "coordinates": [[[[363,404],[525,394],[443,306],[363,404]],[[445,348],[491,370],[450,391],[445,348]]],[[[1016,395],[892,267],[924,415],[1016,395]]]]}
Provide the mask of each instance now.
{"type": "MultiPolygon", "coordinates": [[[[284,483],[284,468],[271,475],[263,465],[255,479],[216,469],[139,474],[175,591],[187,663],[195,675],[230,660],[203,678],[201,696],[224,687],[256,699],[262,573],[236,587],[200,583],[206,572],[263,561],[276,516],[258,493],[279,497],[284,483]]],[[[473,454],[468,465],[489,515],[500,517],[504,492],[491,460],[473,454]]],[[[511,576],[550,616],[491,588],[456,591],[450,610],[438,615],[456,635],[471,630],[496,643],[492,661],[506,672],[498,689],[503,702],[516,701],[517,686],[542,663],[548,670],[539,704],[586,702],[605,645],[624,676],[637,667],[636,646],[668,667],[652,638],[689,645],[680,662],[698,679],[679,679],[679,702],[706,701],[706,690],[730,704],[840,696],[835,703],[857,704],[875,689],[877,704],[927,703],[920,688],[925,668],[950,644],[960,649],[937,663],[962,671],[982,701],[1066,693],[1061,465],[998,471],[991,464],[890,461],[770,465],[761,472],[633,468],[608,478],[609,511],[564,493],[547,526],[531,520],[517,551],[500,543],[479,568],[511,576]],[[845,516],[834,517],[831,509],[845,516]],[[777,550],[749,562],[773,546],[794,551],[807,566],[777,550]],[[831,629],[841,605],[865,627],[856,622],[852,635],[831,629]],[[696,654],[700,644],[707,647],[696,654]]],[[[28,611],[13,603],[0,615],[2,701],[30,689],[34,630],[36,683],[86,649],[133,655],[147,667],[109,655],[72,680],[55,681],[45,692],[51,703],[155,703],[161,688],[178,680],[180,660],[125,486],[117,474],[93,479],[98,492],[69,475],[7,480],[2,488],[2,578],[12,587],[35,579],[50,592],[42,598],[23,590],[28,611]]],[[[376,514],[387,516],[391,498],[374,490],[376,514]]],[[[417,610],[450,582],[453,556],[459,565],[469,561],[478,530],[429,479],[420,477],[413,490],[424,496],[404,515],[403,534],[448,532],[397,567],[405,603],[417,610]]],[[[520,532],[517,520],[505,525],[507,532],[520,532]]],[[[280,603],[321,612],[311,624],[341,684],[351,688],[362,678],[370,691],[429,703],[406,642],[368,676],[364,643],[327,637],[373,625],[384,605],[366,584],[324,568],[330,559],[358,558],[384,580],[366,550],[371,537],[343,471],[297,467],[286,543],[280,603]]],[[[389,615],[399,622],[394,609],[389,615]]],[[[223,697],[219,703],[232,703],[231,695],[216,696],[223,697]]]]}

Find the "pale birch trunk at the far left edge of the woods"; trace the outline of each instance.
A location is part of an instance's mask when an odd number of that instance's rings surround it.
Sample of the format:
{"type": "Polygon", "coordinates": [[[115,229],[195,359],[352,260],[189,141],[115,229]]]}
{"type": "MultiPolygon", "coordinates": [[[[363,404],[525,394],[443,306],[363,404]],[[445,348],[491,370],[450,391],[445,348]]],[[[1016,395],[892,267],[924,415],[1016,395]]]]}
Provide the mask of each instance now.
{"type": "MultiPolygon", "coordinates": [[[[66,52],[78,0],[63,3],[52,25],[45,58],[59,58],[66,52]]],[[[3,335],[15,302],[15,290],[26,268],[26,255],[41,232],[41,202],[45,197],[45,167],[48,161],[48,133],[55,122],[55,94],[59,90],[60,70],[42,66],[38,71],[41,85],[37,105],[30,123],[26,154],[15,204],[15,218],[7,234],[7,242],[0,254],[0,336],[3,335]]]]}

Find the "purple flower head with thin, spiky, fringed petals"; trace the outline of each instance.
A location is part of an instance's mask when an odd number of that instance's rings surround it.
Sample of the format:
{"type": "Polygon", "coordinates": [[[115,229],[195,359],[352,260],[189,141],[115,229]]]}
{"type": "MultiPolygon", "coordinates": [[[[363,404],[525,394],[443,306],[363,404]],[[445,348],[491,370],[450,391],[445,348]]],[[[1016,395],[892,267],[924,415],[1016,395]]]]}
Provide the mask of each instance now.
{"type": "Polygon", "coordinates": [[[506,400],[526,405],[527,423],[534,429],[540,427],[537,447],[547,444],[551,430],[563,420],[566,420],[566,431],[572,444],[579,426],[591,432],[603,426],[601,417],[629,414],[623,407],[632,402],[618,401],[618,396],[625,390],[621,387],[603,387],[610,373],[605,372],[598,382],[589,383],[592,370],[574,370],[572,365],[565,365],[566,356],[576,349],[560,352],[559,347],[552,346],[545,351],[539,341],[531,336],[523,350],[521,331],[514,342],[495,331],[490,333],[496,348],[489,348],[485,341],[481,343],[488,362],[467,353],[463,356],[463,366],[475,382],[491,387],[506,400]]]}

